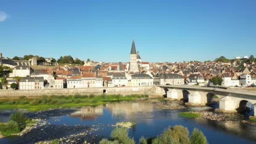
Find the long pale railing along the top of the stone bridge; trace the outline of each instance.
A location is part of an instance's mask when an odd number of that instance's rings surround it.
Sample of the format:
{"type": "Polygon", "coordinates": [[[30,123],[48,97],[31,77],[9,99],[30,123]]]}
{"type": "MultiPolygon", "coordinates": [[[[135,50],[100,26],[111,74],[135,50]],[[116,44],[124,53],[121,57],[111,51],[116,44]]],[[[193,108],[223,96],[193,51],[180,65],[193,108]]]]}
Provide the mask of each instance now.
{"type": "Polygon", "coordinates": [[[256,92],[239,91],[239,90],[231,90],[231,89],[221,89],[221,88],[211,88],[211,87],[202,87],[202,86],[193,86],[193,85],[157,85],[157,86],[162,87],[162,88],[201,89],[201,90],[221,91],[221,92],[226,92],[226,93],[236,93],[236,94],[256,96],[256,92]]]}

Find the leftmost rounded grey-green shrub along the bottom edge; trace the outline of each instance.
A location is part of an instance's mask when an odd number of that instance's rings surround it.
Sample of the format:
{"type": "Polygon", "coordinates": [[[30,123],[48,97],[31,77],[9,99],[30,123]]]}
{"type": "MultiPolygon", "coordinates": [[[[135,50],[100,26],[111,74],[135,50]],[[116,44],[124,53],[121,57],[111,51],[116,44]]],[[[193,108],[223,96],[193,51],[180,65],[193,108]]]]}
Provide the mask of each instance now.
{"type": "Polygon", "coordinates": [[[116,127],[111,132],[111,138],[118,140],[120,143],[123,144],[135,144],[135,141],[128,136],[128,129],[127,128],[118,128],[116,127]]]}

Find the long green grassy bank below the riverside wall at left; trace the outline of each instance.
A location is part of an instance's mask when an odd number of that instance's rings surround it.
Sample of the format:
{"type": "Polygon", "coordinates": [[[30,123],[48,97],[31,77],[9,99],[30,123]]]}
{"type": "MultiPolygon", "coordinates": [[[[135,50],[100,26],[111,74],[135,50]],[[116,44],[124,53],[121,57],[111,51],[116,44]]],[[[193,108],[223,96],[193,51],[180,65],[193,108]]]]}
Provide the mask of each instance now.
{"type": "Polygon", "coordinates": [[[1,98],[0,109],[27,109],[27,111],[38,111],[58,107],[82,107],[107,104],[112,101],[133,101],[137,98],[148,97],[148,95],[69,95],[69,96],[41,96],[39,97],[15,97],[1,98]]]}

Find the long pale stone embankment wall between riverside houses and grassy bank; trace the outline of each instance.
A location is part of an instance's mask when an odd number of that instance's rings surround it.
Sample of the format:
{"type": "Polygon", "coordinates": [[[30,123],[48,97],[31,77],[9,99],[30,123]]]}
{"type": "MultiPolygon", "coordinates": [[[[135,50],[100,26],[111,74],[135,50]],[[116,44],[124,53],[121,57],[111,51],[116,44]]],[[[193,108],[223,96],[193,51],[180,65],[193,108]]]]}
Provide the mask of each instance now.
{"type": "Polygon", "coordinates": [[[0,90],[0,97],[14,96],[42,96],[42,95],[100,95],[103,90],[107,94],[148,94],[155,95],[157,92],[156,86],[140,86],[140,87],[114,87],[114,88],[63,88],[63,89],[40,89],[40,90],[0,90]]]}

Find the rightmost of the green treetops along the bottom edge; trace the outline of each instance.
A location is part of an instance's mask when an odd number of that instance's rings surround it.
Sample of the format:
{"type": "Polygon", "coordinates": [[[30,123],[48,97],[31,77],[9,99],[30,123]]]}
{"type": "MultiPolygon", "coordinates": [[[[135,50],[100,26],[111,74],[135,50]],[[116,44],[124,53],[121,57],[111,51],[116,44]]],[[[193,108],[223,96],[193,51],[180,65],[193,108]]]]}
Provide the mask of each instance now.
{"type": "Polygon", "coordinates": [[[203,132],[197,128],[194,128],[190,137],[191,144],[208,144],[206,137],[203,132]]]}

